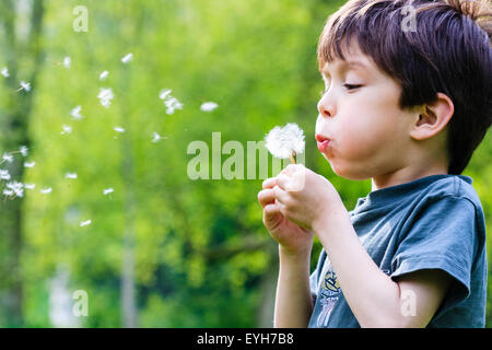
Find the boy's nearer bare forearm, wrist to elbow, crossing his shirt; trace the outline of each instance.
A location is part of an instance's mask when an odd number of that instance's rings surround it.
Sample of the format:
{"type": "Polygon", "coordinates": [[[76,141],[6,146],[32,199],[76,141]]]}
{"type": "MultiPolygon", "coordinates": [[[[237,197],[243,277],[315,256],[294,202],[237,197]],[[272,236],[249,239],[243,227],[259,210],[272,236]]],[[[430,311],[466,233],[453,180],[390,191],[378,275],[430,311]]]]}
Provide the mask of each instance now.
{"type": "Polygon", "coordinates": [[[359,324],[398,327],[402,320],[398,283],[380,271],[364,249],[349,215],[331,219],[316,232],[359,324]]]}

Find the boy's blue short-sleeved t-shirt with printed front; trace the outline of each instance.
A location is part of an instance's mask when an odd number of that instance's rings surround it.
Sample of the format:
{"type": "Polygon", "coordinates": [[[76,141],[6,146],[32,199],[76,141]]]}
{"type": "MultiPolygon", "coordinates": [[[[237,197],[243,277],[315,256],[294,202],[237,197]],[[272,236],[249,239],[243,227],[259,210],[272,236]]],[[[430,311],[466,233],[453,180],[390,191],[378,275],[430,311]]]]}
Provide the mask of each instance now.
{"type": "MultiPolygon", "coordinates": [[[[471,182],[462,175],[426,176],[372,191],[350,212],[362,245],[394,281],[422,269],[441,269],[452,277],[427,327],[485,324],[485,220],[471,182]]],[[[360,327],[325,249],[309,282],[309,327],[360,327]]]]}

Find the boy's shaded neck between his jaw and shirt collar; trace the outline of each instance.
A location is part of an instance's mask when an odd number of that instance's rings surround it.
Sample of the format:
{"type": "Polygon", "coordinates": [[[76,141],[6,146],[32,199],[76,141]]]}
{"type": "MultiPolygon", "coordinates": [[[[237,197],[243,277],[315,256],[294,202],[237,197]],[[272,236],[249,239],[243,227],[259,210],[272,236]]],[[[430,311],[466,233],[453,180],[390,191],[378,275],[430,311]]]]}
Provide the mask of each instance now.
{"type": "Polygon", "coordinates": [[[372,190],[410,183],[425,176],[441,175],[441,174],[447,174],[447,166],[442,164],[422,166],[419,168],[406,166],[386,174],[374,176],[372,178],[372,190]]]}

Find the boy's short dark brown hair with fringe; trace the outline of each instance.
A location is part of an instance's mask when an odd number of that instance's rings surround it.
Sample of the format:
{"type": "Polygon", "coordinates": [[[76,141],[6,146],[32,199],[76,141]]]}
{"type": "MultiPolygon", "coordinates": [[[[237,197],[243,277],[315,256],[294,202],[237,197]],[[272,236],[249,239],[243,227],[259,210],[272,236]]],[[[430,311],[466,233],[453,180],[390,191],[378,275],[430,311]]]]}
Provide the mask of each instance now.
{"type": "MultiPolygon", "coordinates": [[[[487,1],[487,0],[485,0],[487,1]]],[[[321,70],[352,40],[402,88],[400,108],[454,103],[447,126],[448,173],[460,174],[492,122],[491,10],[479,0],[349,0],[327,20],[321,70]],[[408,24],[414,11],[413,31],[408,24]]]]}

